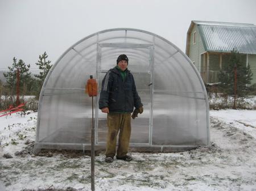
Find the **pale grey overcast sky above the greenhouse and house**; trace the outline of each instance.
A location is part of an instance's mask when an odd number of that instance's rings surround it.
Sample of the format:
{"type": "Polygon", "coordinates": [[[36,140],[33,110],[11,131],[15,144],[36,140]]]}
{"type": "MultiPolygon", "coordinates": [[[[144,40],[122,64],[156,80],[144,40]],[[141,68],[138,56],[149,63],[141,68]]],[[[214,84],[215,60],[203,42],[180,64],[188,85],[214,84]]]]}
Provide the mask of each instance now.
{"type": "Polygon", "coordinates": [[[256,0],[0,0],[0,70],[13,57],[35,69],[80,39],[110,28],[155,33],[185,52],[191,20],[256,25],[256,0]]]}

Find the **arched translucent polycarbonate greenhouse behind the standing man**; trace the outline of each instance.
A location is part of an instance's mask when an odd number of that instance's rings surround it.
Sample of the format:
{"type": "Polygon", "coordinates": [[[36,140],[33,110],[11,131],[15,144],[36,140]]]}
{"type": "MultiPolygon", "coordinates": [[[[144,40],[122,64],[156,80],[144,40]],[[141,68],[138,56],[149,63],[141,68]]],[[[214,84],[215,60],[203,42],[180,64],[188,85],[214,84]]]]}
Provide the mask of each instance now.
{"type": "MultiPolygon", "coordinates": [[[[132,120],[131,150],[181,151],[209,145],[209,104],[203,80],[187,56],[170,41],[139,29],[94,33],[72,45],[52,66],[39,98],[35,150],[90,150],[90,75],[101,82],[117,57],[129,57],[144,112],[132,120]]],[[[106,114],[94,97],[96,149],[105,148],[106,114]]]]}

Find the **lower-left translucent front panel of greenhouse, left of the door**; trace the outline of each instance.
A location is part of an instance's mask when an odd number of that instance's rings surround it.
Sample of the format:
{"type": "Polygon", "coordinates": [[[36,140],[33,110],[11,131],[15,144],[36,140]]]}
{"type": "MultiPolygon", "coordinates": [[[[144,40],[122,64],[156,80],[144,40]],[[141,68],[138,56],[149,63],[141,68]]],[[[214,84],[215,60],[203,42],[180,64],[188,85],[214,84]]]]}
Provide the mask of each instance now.
{"type": "Polygon", "coordinates": [[[90,143],[91,100],[83,91],[47,90],[42,101],[39,142],[90,143]]]}

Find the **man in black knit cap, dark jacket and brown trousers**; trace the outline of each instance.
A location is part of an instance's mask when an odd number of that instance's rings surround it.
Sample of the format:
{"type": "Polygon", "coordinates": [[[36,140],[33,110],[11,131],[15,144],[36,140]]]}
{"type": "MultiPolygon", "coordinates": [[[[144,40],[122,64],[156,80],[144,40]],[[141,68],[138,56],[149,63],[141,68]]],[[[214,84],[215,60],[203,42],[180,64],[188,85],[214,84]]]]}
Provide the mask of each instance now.
{"type": "Polygon", "coordinates": [[[136,90],[133,75],[127,70],[128,58],[121,54],[117,66],[110,69],[102,80],[99,107],[108,113],[108,137],[105,162],[112,163],[115,156],[115,145],[118,138],[117,159],[130,161],[127,155],[131,135],[131,113],[133,118],[143,112],[143,104],[136,90]]]}

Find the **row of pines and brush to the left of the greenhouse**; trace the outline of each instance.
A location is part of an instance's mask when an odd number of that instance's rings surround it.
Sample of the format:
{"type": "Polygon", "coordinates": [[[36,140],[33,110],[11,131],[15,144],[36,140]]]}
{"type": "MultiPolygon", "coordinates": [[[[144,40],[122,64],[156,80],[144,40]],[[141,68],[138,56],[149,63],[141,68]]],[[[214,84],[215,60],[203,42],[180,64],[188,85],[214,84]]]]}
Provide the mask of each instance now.
{"type": "Polygon", "coordinates": [[[17,86],[19,86],[20,95],[34,95],[39,98],[44,79],[51,69],[51,61],[44,52],[39,55],[39,60],[35,63],[38,66],[39,74],[31,74],[30,65],[26,65],[23,60],[13,58],[13,64],[8,67],[9,71],[3,73],[6,83],[0,82],[0,95],[16,95],[17,86]]]}

